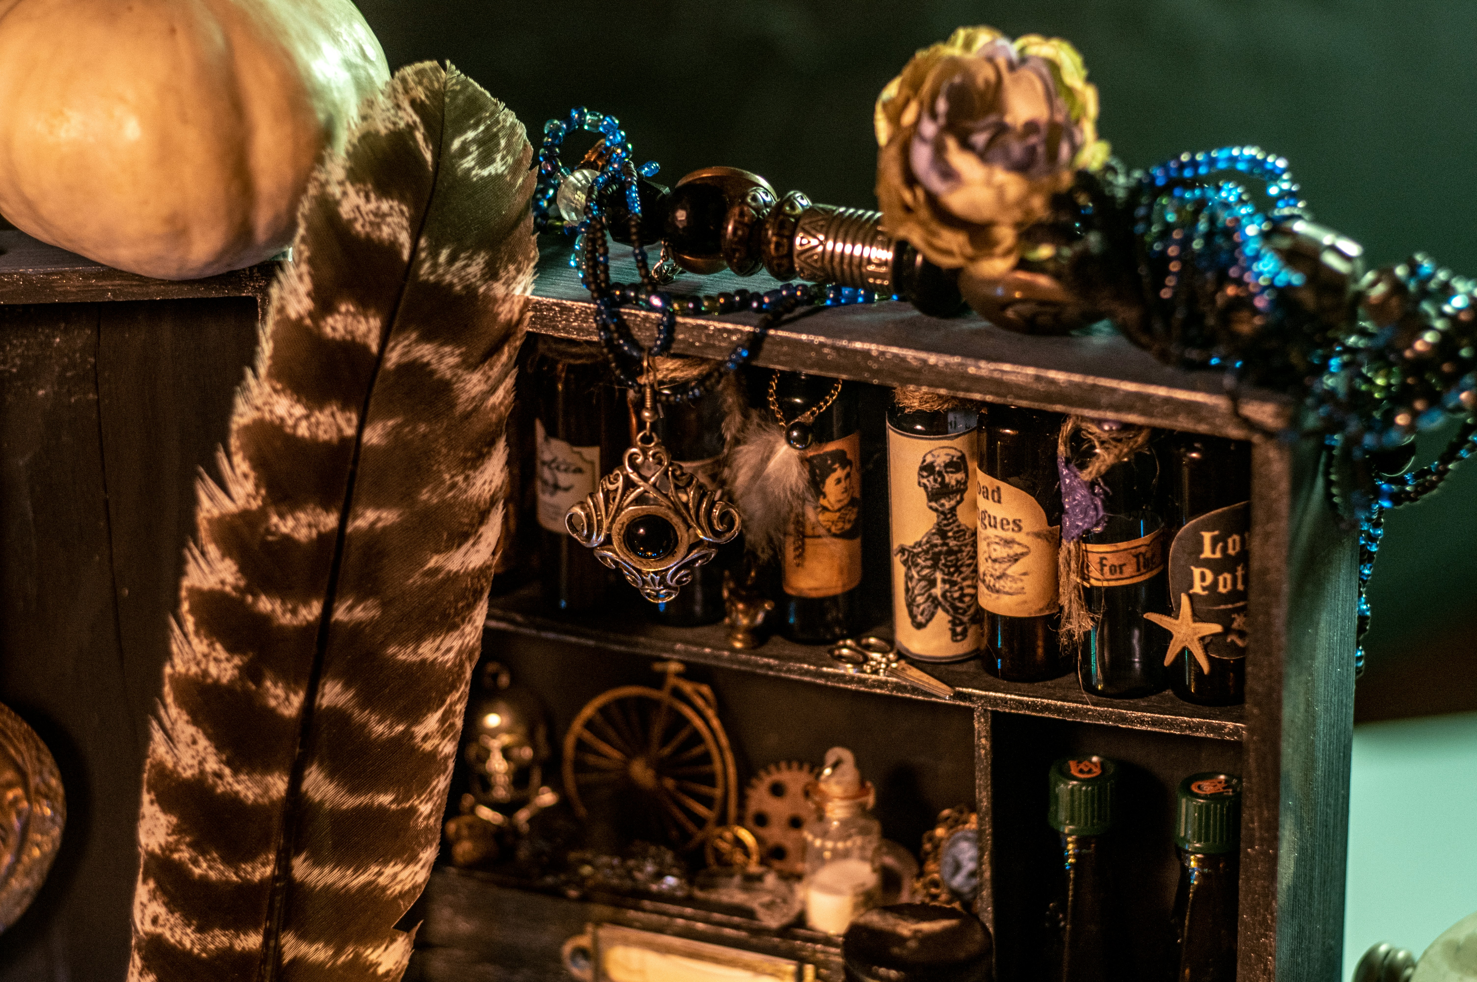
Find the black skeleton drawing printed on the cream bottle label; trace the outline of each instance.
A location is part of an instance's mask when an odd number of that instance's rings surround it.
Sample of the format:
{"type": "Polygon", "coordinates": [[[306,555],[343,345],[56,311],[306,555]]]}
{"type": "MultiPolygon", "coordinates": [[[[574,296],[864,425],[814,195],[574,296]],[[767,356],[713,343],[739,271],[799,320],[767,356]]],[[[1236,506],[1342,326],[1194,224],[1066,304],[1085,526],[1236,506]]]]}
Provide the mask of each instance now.
{"type": "Polygon", "coordinates": [[[942,610],[948,636],[964,641],[975,620],[975,529],[959,520],[969,493],[969,461],[951,446],[929,450],[919,462],[919,487],[933,526],[913,545],[895,549],[902,561],[908,620],[922,631],[942,610]]]}

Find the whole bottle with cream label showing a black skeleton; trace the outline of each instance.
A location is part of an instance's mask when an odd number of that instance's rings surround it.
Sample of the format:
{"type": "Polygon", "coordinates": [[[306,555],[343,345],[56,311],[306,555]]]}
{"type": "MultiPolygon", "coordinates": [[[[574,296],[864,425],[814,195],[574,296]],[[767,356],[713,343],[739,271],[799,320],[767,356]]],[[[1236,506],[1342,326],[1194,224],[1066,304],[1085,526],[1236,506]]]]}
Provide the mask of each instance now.
{"type": "Polygon", "coordinates": [[[892,628],[919,662],[960,662],[979,650],[975,600],[975,427],[972,408],[888,406],[892,628]]]}

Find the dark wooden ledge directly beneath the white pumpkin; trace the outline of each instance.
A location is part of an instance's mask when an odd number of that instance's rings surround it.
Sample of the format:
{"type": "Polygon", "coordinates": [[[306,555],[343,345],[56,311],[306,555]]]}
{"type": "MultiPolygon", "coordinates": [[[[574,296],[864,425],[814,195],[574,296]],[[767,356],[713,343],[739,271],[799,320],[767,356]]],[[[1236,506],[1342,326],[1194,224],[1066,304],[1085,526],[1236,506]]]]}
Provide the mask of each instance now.
{"type": "Polygon", "coordinates": [[[0,304],[261,298],[272,288],[281,266],[269,261],[205,279],[151,279],[38,242],[25,232],[6,229],[0,230],[0,304]]]}

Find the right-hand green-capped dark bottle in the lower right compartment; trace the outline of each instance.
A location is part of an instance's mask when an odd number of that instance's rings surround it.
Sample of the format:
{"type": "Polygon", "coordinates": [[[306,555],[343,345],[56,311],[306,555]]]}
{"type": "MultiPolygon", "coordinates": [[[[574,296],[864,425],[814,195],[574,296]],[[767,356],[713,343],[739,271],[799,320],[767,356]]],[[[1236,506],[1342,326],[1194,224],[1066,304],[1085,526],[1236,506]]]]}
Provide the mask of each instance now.
{"type": "Polygon", "coordinates": [[[1193,774],[1174,802],[1174,982],[1235,982],[1241,778],[1193,774]]]}

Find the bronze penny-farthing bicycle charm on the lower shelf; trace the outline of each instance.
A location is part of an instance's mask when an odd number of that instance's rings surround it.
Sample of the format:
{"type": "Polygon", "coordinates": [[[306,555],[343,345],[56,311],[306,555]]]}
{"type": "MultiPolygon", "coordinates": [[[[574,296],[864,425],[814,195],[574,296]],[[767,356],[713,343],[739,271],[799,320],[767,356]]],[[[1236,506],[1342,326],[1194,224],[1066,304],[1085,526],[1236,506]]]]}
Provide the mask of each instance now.
{"type": "Polygon", "coordinates": [[[637,837],[703,845],[737,811],[733,749],[713,690],[653,666],[662,688],[623,685],[592,698],[564,735],[564,793],[579,818],[610,815],[637,837]]]}

